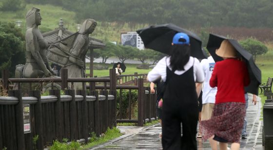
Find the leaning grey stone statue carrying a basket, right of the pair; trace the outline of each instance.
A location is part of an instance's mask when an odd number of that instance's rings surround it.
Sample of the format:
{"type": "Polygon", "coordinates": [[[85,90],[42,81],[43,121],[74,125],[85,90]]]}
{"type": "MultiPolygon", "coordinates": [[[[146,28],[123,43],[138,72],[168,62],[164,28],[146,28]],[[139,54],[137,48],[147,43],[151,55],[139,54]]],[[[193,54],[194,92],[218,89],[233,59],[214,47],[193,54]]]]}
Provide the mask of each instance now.
{"type": "MultiPolygon", "coordinates": [[[[89,34],[97,26],[94,19],[86,19],[79,32],[51,45],[47,57],[62,69],[68,69],[68,78],[84,78],[84,59],[89,46],[89,34]]],[[[68,84],[69,86],[71,84],[68,84]]],[[[74,89],[85,89],[85,84],[74,83],[74,89]]]]}

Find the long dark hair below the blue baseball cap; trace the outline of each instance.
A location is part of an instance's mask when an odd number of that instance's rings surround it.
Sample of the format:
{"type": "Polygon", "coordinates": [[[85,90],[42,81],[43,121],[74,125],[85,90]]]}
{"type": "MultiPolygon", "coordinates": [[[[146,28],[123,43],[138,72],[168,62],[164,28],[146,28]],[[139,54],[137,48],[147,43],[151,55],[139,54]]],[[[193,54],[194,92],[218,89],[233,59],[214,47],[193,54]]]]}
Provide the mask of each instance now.
{"type": "Polygon", "coordinates": [[[185,70],[184,66],[188,63],[191,55],[191,47],[189,45],[174,44],[171,48],[170,66],[172,70],[185,70]]]}

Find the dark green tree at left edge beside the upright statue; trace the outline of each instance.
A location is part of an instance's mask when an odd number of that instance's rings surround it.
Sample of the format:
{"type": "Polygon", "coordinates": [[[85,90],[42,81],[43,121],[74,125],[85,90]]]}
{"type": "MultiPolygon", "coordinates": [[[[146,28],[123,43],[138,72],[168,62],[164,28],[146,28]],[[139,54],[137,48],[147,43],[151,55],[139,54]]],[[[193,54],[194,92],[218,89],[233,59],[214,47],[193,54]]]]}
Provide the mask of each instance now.
{"type": "Polygon", "coordinates": [[[0,70],[8,69],[14,76],[15,66],[25,64],[24,39],[14,23],[0,22],[0,70]]]}

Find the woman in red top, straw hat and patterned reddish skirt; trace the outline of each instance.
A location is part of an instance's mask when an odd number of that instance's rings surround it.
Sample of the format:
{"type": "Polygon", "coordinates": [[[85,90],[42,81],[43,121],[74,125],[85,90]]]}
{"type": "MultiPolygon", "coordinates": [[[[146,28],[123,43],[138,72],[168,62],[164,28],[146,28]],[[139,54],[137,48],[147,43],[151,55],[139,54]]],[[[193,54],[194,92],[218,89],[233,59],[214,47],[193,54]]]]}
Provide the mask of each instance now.
{"type": "Polygon", "coordinates": [[[223,40],[215,53],[224,60],[215,64],[210,86],[217,87],[215,106],[211,119],[201,121],[204,140],[213,137],[220,150],[239,150],[240,137],[246,115],[244,86],[250,79],[246,63],[236,58],[236,50],[228,40],[223,40]]]}

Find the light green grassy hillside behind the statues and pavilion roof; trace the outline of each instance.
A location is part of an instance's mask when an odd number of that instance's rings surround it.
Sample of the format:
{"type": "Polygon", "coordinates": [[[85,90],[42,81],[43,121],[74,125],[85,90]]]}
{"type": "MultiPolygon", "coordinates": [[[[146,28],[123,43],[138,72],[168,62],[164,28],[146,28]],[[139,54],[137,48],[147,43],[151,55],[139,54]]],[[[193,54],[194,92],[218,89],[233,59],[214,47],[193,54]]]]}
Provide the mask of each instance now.
{"type": "MultiPolygon", "coordinates": [[[[59,19],[62,18],[64,26],[69,31],[76,32],[76,25],[81,24],[84,20],[79,22],[75,21],[76,13],[72,11],[63,10],[62,7],[53,5],[38,5],[27,4],[26,9],[18,12],[1,12],[0,21],[3,22],[15,22],[21,20],[22,32],[25,32],[25,14],[32,7],[40,9],[42,23],[39,26],[41,32],[47,32],[54,30],[59,25],[59,19]]],[[[136,31],[137,29],[147,27],[148,24],[130,24],[130,23],[117,23],[117,22],[98,22],[97,28],[92,37],[101,39],[103,41],[117,41],[120,42],[120,33],[136,31]]]]}

